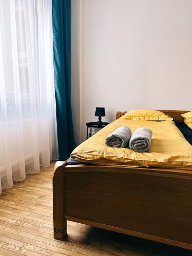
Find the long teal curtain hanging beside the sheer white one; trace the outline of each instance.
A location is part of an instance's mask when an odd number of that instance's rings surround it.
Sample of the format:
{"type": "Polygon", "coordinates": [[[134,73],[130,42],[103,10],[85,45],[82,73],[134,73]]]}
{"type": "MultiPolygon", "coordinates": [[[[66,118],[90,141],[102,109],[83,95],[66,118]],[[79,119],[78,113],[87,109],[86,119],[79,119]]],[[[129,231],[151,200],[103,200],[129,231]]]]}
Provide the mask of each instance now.
{"type": "Polygon", "coordinates": [[[52,0],[53,52],[59,160],[75,148],[71,111],[71,1],[52,0]]]}

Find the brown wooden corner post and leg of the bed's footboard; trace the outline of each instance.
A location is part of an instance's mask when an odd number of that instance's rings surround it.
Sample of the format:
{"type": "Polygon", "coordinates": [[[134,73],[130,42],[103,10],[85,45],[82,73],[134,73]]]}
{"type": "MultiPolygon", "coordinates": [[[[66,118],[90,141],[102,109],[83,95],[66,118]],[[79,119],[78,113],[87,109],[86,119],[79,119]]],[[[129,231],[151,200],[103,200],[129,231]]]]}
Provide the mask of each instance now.
{"type": "Polygon", "coordinates": [[[54,238],[63,240],[67,236],[67,221],[64,214],[64,171],[66,162],[57,161],[53,176],[53,226],[54,238]]]}

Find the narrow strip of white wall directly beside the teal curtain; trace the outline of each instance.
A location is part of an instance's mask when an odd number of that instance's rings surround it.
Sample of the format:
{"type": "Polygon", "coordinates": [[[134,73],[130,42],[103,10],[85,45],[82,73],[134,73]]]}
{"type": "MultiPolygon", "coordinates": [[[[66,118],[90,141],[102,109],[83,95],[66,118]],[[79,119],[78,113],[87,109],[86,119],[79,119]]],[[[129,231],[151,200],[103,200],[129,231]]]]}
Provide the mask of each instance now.
{"type": "Polygon", "coordinates": [[[71,104],[73,116],[74,139],[82,142],[82,0],[71,1],[71,104]]]}

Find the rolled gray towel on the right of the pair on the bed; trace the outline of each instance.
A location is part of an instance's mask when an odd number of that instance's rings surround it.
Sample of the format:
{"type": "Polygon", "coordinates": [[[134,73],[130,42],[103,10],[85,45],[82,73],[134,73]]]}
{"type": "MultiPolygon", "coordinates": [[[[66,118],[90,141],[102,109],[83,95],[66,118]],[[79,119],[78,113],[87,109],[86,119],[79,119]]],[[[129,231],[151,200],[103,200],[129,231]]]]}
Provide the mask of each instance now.
{"type": "Polygon", "coordinates": [[[138,128],[130,139],[130,150],[146,152],[151,147],[152,131],[148,128],[138,128]]]}

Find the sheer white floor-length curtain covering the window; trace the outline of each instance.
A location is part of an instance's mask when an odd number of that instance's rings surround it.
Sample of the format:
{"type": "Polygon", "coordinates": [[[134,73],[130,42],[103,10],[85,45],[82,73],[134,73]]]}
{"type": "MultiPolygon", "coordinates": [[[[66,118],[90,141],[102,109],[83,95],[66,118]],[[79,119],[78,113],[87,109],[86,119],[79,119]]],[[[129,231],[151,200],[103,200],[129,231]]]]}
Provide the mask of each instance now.
{"type": "Polygon", "coordinates": [[[58,159],[52,1],[0,1],[0,195],[58,159]]]}

